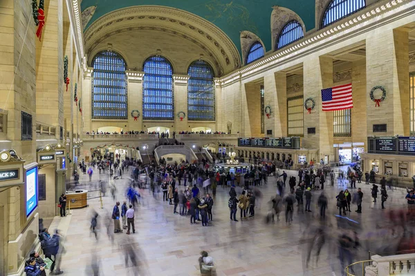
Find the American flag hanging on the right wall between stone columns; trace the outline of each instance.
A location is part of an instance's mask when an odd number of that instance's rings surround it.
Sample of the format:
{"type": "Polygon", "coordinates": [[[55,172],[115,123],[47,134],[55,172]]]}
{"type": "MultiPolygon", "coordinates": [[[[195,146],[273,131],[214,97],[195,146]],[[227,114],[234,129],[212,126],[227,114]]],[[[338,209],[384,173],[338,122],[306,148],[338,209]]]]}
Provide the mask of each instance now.
{"type": "Polygon", "coordinates": [[[323,111],[334,111],[353,108],[351,83],[343,86],[322,89],[323,111]]]}

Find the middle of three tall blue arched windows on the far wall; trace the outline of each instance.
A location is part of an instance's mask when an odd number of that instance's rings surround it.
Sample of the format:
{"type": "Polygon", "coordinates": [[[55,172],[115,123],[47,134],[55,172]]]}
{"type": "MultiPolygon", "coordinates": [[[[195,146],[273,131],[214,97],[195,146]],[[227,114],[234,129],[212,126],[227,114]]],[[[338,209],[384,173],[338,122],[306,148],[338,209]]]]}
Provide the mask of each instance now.
{"type": "Polygon", "coordinates": [[[173,120],[173,69],[165,57],[149,57],[144,63],[142,119],[173,120]]]}

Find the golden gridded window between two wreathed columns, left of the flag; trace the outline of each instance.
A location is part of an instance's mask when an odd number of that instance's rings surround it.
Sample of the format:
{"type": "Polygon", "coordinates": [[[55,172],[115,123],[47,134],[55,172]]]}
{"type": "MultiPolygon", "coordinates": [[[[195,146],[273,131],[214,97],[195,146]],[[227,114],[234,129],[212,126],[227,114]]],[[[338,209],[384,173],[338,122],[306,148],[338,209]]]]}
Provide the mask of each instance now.
{"type": "Polygon", "coordinates": [[[288,136],[304,136],[304,98],[287,99],[288,136]]]}

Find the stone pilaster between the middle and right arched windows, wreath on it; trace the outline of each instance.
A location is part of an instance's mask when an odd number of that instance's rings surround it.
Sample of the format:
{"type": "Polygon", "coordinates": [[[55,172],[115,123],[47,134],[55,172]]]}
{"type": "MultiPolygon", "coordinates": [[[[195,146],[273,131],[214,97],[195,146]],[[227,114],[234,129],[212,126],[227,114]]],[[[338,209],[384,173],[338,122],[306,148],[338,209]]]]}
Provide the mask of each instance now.
{"type": "MultiPolygon", "coordinates": [[[[174,130],[179,132],[181,130],[187,130],[187,81],[189,75],[173,75],[174,80],[174,130]],[[183,121],[177,116],[178,112],[183,111],[186,113],[186,117],[183,121]]],[[[171,130],[172,131],[172,130],[171,130]]],[[[172,132],[170,133],[173,134],[172,132]]]]}

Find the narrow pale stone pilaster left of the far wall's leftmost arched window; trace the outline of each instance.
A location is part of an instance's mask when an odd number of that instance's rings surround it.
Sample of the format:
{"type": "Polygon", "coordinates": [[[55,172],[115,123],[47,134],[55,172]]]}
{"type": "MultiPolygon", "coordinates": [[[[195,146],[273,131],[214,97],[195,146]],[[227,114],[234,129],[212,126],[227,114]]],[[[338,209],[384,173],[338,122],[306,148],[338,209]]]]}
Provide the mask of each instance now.
{"type": "MultiPolygon", "coordinates": [[[[84,72],[84,81],[82,83],[82,96],[78,97],[79,99],[82,99],[81,107],[82,107],[82,116],[79,114],[78,118],[78,124],[80,124],[80,129],[82,132],[91,132],[92,131],[92,124],[91,124],[91,118],[92,118],[92,108],[91,108],[91,85],[92,85],[92,74],[93,74],[93,68],[89,67],[84,72]],[[86,118],[84,120],[83,128],[82,128],[82,117],[86,118]]],[[[79,101],[78,101],[79,104],[79,101]]]]}

